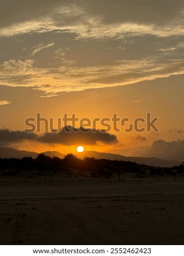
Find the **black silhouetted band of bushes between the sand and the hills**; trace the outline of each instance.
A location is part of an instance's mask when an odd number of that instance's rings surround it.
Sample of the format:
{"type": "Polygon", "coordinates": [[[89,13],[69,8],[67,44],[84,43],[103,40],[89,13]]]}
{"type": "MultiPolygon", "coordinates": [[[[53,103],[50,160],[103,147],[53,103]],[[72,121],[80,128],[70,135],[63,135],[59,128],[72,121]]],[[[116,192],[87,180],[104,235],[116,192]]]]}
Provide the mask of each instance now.
{"type": "Polygon", "coordinates": [[[73,154],[66,155],[64,159],[45,156],[44,154],[40,154],[36,159],[32,157],[0,159],[0,175],[17,176],[21,175],[22,172],[29,174],[34,172],[34,175],[54,175],[57,173],[71,175],[71,172],[76,172],[77,175],[106,178],[116,174],[119,180],[122,173],[135,173],[140,175],[140,180],[142,180],[149,172],[151,175],[156,175],[157,180],[159,180],[159,176],[163,174],[175,176],[176,173],[184,172],[184,162],[180,166],[161,168],[130,161],[94,159],[93,157],[85,157],[82,160],[73,154]]]}

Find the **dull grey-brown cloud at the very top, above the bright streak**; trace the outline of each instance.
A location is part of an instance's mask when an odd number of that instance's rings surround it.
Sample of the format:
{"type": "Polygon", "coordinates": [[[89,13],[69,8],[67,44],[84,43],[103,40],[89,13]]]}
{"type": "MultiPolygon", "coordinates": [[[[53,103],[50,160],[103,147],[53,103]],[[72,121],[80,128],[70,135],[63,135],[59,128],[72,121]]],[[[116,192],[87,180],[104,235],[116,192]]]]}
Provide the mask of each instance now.
{"type": "MultiPolygon", "coordinates": [[[[120,23],[124,21],[137,21],[140,23],[158,23],[172,20],[178,15],[183,7],[182,0],[116,0],[112,4],[111,0],[49,0],[36,1],[14,1],[2,0],[0,10],[1,26],[23,22],[26,20],[38,20],[39,17],[50,17],[62,14],[66,17],[77,16],[86,13],[89,16],[100,17],[104,23],[120,23]],[[11,11],[10,10],[11,6],[11,11]],[[79,11],[80,10],[80,11],[79,11]],[[157,19],[155,19],[157,17],[157,19]]],[[[58,20],[58,17],[56,17],[58,20]]]]}

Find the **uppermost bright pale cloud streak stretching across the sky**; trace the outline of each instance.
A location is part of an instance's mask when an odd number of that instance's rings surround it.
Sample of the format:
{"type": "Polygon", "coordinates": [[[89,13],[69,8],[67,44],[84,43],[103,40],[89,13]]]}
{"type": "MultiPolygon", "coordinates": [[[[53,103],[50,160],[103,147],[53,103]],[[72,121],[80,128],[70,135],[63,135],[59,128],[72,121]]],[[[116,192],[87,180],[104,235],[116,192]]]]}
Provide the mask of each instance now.
{"type": "Polygon", "coordinates": [[[155,25],[142,25],[136,22],[124,22],[120,24],[106,25],[100,21],[89,19],[84,17],[82,23],[77,25],[64,25],[58,26],[52,19],[44,19],[41,21],[27,21],[19,23],[16,26],[2,28],[0,36],[12,36],[18,34],[27,33],[47,33],[47,32],[65,32],[76,34],[77,39],[105,39],[105,38],[116,38],[125,39],[133,36],[153,35],[160,38],[168,36],[179,36],[184,33],[184,28],[181,26],[183,20],[180,23],[175,24],[171,21],[167,25],[160,26],[159,28],[155,25]]]}

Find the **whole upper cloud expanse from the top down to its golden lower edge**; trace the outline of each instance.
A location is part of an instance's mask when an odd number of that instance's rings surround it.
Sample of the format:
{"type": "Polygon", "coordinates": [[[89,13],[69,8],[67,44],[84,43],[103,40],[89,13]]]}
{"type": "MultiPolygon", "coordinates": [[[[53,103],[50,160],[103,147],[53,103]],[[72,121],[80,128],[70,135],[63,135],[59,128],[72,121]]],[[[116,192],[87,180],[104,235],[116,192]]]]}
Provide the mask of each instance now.
{"type": "Polygon", "coordinates": [[[53,96],[184,74],[183,1],[2,1],[2,84],[53,96]]]}

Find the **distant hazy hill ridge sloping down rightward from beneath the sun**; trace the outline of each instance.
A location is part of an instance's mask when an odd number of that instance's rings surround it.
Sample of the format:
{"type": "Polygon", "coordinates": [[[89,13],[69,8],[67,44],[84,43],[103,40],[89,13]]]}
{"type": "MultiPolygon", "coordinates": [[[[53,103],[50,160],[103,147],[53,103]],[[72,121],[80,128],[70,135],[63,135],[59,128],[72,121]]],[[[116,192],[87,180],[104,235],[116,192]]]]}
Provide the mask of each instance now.
{"type": "Polygon", "coordinates": [[[84,157],[94,157],[95,159],[109,159],[119,161],[131,161],[139,164],[147,164],[149,166],[160,166],[160,167],[172,167],[181,164],[180,161],[169,161],[158,159],[156,157],[136,157],[136,156],[123,156],[111,153],[100,153],[97,151],[85,151],[83,153],[77,153],[77,157],[83,159],[84,157]]]}

